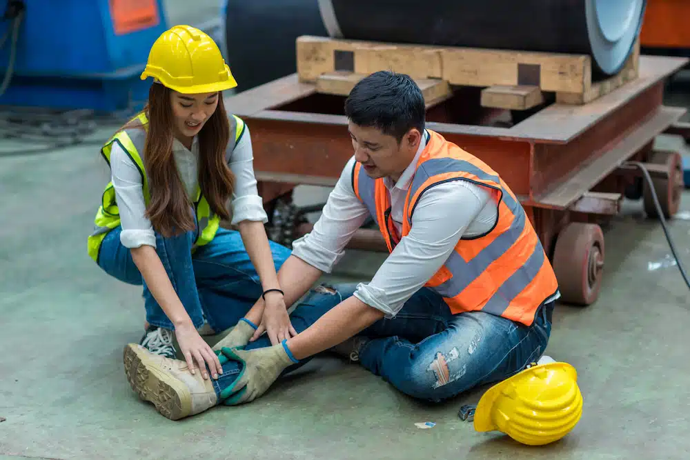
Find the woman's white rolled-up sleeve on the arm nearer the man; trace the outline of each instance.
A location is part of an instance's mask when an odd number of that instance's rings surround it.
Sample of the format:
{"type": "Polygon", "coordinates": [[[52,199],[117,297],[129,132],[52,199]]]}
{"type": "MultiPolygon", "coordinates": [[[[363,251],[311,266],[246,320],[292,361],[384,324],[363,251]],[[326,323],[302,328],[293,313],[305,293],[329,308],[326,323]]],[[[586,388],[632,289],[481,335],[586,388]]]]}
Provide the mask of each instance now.
{"type": "Polygon", "coordinates": [[[228,162],[230,171],[235,174],[235,190],[230,206],[233,210],[233,225],[242,221],[268,222],[264,210],[264,201],[259,196],[257,179],[254,174],[254,152],[249,134],[249,127],[244,126],[244,133],[233,150],[228,162]]]}

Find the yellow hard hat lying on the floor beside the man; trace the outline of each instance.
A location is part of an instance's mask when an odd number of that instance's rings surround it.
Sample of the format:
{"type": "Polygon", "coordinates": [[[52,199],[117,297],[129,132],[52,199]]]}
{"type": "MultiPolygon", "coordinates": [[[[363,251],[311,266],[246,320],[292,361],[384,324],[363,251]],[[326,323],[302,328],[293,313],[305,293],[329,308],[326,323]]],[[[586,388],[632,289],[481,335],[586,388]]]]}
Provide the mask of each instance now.
{"type": "Polygon", "coordinates": [[[475,430],[497,430],[528,446],[558,441],[582,417],[577,380],[568,363],[527,368],[484,393],[474,414],[475,430]]]}

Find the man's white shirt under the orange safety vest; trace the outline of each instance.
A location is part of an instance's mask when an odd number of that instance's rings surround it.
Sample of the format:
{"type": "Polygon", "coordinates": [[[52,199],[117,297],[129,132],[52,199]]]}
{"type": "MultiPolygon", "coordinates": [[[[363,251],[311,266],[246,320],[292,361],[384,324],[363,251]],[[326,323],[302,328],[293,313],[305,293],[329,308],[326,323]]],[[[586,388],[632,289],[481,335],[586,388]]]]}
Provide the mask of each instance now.
{"type": "MultiPolygon", "coordinates": [[[[428,142],[428,132],[424,133],[417,156],[397,183],[384,179],[391,198],[391,217],[399,234],[402,234],[405,197],[415,164],[428,142]]],[[[369,215],[353,190],[354,164],[355,157],[352,157],[328,196],[314,229],[293,242],[296,257],[326,273],[342,258],[346,244],[369,215]]],[[[395,246],[369,283],[359,283],[355,297],[384,312],[387,318],[395,317],[404,303],[441,268],[460,237],[489,232],[497,218],[497,203],[482,186],[457,180],[426,190],[417,202],[410,233],[395,246]]]]}

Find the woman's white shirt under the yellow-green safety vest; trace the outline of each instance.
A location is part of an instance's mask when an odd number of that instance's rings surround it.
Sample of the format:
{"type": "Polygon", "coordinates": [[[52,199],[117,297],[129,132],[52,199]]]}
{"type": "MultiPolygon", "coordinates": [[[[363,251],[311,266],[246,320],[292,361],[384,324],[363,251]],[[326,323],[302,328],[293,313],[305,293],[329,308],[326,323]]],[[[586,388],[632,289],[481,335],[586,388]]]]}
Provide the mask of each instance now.
{"type": "MultiPolygon", "coordinates": [[[[187,196],[194,200],[198,183],[199,141],[197,137],[193,139],[191,150],[175,139],[172,143],[172,153],[187,196]]],[[[235,190],[231,202],[232,223],[244,220],[266,223],[268,216],[264,210],[262,197],[259,196],[257,180],[254,176],[254,155],[248,126],[245,126],[244,134],[235,146],[228,166],[235,174],[235,190]]],[[[122,245],[126,248],[138,248],[146,244],[155,248],[155,233],[150,220],[144,214],[146,204],[139,168],[118,143],[112,144],[110,152],[110,178],[115,187],[115,197],[120,213],[122,245]]]]}

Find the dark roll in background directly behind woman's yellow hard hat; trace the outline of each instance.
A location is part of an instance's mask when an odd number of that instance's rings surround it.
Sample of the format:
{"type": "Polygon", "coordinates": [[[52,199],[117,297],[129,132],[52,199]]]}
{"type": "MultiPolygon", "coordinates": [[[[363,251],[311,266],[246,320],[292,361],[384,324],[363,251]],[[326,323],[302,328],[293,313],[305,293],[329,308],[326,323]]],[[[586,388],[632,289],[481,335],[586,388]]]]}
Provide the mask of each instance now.
{"type": "Polygon", "coordinates": [[[300,35],[328,36],[317,0],[228,0],[225,28],[237,92],[297,72],[300,35]]]}

